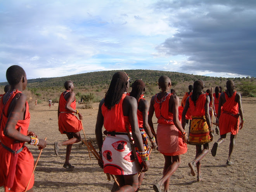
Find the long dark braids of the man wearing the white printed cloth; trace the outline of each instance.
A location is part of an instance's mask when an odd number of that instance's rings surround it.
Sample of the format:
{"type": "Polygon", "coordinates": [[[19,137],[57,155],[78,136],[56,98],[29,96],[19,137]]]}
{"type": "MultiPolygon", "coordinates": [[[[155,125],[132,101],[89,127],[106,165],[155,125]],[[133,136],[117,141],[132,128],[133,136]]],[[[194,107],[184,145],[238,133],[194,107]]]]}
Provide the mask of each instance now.
{"type": "Polygon", "coordinates": [[[108,110],[120,102],[128,85],[128,80],[129,78],[125,72],[117,72],[113,75],[104,100],[104,104],[108,110]]]}

